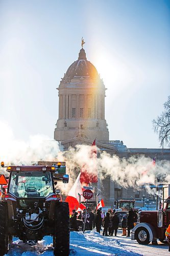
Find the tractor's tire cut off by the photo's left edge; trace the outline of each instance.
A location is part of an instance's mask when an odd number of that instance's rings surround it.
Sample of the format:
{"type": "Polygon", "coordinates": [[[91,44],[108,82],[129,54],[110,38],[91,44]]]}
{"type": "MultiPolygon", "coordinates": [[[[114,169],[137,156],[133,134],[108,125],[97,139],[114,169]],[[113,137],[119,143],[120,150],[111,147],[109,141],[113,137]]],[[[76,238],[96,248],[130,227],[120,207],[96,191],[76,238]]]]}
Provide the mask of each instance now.
{"type": "Polygon", "coordinates": [[[6,202],[0,202],[0,256],[8,252],[9,237],[7,234],[8,206],[6,202]]]}

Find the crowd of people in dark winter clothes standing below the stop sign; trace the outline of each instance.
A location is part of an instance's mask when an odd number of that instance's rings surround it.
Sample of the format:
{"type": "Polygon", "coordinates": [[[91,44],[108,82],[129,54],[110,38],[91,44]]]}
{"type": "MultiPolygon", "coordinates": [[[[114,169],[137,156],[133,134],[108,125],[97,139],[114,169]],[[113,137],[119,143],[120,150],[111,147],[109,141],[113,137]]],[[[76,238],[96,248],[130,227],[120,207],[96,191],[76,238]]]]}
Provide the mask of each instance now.
{"type": "MultiPolygon", "coordinates": [[[[115,209],[108,210],[105,216],[100,209],[91,211],[90,208],[87,208],[86,216],[85,209],[82,212],[73,210],[70,218],[70,228],[79,231],[79,221],[82,221],[82,227],[85,227],[85,230],[92,230],[96,227],[96,231],[100,233],[103,227],[103,236],[117,236],[120,219],[115,209]]],[[[130,237],[130,231],[134,227],[134,222],[137,221],[138,212],[130,209],[128,216],[123,216],[121,220],[122,236],[130,237]]]]}

